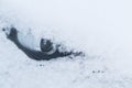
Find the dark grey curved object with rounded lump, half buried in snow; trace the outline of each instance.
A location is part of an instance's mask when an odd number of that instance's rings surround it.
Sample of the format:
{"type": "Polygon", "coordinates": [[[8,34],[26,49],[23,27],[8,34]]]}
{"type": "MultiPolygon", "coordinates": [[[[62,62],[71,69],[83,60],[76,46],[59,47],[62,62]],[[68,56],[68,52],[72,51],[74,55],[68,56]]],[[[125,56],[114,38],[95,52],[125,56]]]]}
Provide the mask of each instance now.
{"type": "MultiPolygon", "coordinates": [[[[3,29],[6,31],[6,29],[3,29]]],[[[24,45],[22,45],[18,40],[18,31],[15,28],[11,28],[9,34],[7,34],[7,37],[12,41],[16,46],[22,50],[29,57],[35,61],[50,61],[52,58],[57,57],[65,57],[65,56],[78,56],[81,55],[81,52],[59,52],[59,45],[56,45],[55,51],[52,54],[48,54],[50,51],[53,50],[53,43],[50,40],[41,40],[41,51],[34,51],[31,50],[24,45]]]]}

